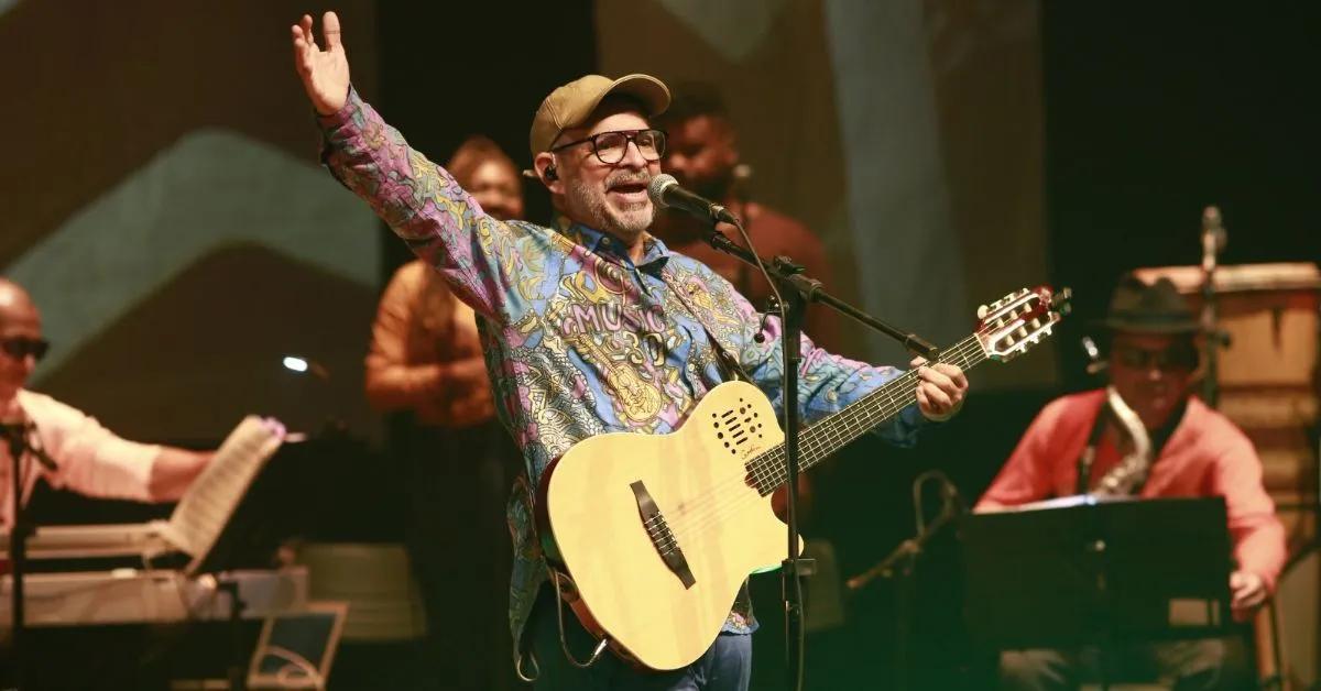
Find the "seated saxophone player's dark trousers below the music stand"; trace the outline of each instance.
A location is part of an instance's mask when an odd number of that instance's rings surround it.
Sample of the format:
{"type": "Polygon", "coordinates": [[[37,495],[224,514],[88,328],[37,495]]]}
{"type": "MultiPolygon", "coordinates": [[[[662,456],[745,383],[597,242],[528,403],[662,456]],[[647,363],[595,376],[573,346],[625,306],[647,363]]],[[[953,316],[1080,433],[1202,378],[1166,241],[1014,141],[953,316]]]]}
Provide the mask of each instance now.
{"type": "MultiPolygon", "coordinates": [[[[1240,645],[1232,639],[1174,641],[1107,651],[1108,680],[1173,684],[1177,691],[1252,688],[1240,645]]],[[[1065,690],[1099,679],[1095,650],[1007,650],[1000,654],[1000,688],[1065,690]]]]}

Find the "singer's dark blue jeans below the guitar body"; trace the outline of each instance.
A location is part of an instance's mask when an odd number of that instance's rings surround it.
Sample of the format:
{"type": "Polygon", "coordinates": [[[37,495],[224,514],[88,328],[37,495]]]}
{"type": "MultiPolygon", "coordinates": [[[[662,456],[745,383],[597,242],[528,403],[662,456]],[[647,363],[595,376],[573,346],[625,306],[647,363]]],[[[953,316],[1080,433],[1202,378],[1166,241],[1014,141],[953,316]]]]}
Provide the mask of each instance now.
{"type": "Polygon", "coordinates": [[[543,591],[526,636],[531,637],[536,669],[535,691],[748,691],[752,680],[752,636],[720,634],[704,655],[682,670],[646,673],[630,667],[612,653],[580,670],[564,657],[568,647],[573,659],[583,662],[592,655],[592,637],[577,617],[564,608],[564,641],[555,614],[557,602],[551,591],[543,591]]]}

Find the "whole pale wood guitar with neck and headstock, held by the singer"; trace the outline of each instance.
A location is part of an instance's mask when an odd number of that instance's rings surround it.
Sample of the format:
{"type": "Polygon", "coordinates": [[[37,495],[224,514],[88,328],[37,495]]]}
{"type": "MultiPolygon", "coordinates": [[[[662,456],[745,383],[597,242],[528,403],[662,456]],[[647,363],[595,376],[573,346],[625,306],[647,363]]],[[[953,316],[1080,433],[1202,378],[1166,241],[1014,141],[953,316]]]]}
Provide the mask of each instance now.
{"type": "MultiPolygon", "coordinates": [[[[942,361],[964,371],[1050,336],[1069,291],[1021,289],[983,305],[942,361]]],[[[909,371],[799,437],[803,469],[917,400],[909,371]]],[[[617,655],[653,670],[696,661],[749,573],[785,558],[770,497],[787,481],[771,402],[746,382],[712,388],[672,433],[588,437],[538,488],[538,531],[560,596],[617,655]]],[[[598,650],[601,650],[598,647],[598,650]]]]}

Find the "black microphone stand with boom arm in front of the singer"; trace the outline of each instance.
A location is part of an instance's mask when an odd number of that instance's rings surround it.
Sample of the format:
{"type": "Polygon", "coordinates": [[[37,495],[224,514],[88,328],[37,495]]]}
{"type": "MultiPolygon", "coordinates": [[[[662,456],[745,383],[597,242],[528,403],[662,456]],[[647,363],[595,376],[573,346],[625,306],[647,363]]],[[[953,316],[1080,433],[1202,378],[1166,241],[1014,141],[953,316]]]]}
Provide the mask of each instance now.
{"type": "MultiPolygon", "coordinates": [[[[783,382],[783,419],[785,428],[785,465],[789,474],[789,486],[785,490],[785,523],[789,528],[789,556],[781,564],[781,576],[785,597],[785,647],[789,659],[789,688],[801,690],[803,687],[803,583],[802,577],[810,575],[812,563],[802,559],[798,554],[798,366],[802,362],[802,321],[808,303],[820,303],[840,312],[855,321],[876,329],[896,341],[904,344],[909,351],[935,362],[939,353],[931,344],[921,337],[904,333],[904,330],[886,324],[865,312],[836,299],[822,288],[822,283],[803,275],[803,267],[795,264],[787,256],[777,256],[773,262],[766,262],[727,238],[715,227],[715,219],[707,242],[725,254],[752,264],[758,271],[765,271],[768,277],[779,288],[782,317],[782,347],[785,357],[783,382]]],[[[749,246],[752,240],[748,240],[749,246]]]]}

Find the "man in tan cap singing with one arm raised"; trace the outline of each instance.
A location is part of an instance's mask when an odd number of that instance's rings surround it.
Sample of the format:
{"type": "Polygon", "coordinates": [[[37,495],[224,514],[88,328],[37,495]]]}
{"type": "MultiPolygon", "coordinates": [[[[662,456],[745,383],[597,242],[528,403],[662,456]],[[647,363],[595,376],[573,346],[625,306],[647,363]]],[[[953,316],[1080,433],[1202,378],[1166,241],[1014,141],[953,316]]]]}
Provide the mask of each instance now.
{"type": "MultiPolygon", "coordinates": [[[[497,410],[523,452],[531,486],[552,458],[589,436],[676,429],[707,391],[729,378],[731,361],[781,400],[778,321],[769,320],[761,342],[754,340],[756,309],[727,280],[647,233],[657,214],[647,184],[660,172],[666,144],[647,118],[668,104],[663,83],[588,75],[552,91],[532,119],[530,140],[557,218],[551,227],[502,222],[351,89],[333,12],[322,32],[324,50],[310,16],[292,26],[295,65],[318,115],[324,160],[478,314],[497,410]]],[[[466,107],[456,99],[456,107],[466,107]]],[[[802,346],[806,421],[901,374],[831,355],[808,338],[802,346]]],[[[929,420],[958,412],[966,390],[958,367],[919,366],[918,403],[878,433],[911,444],[929,420]]],[[[547,567],[526,491],[510,502],[509,518],[517,550],[510,626],[515,649],[530,649],[536,661],[538,688],[748,688],[745,634],[756,622],[745,597],[733,602],[725,633],[688,667],[643,673],[610,655],[587,670],[572,665],[561,651],[556,596],[543,588],[547,567]],[[532,617],[539,597],[550,606],[532,617]]],[[[575,617],[564,620],[565,643],[584,659],[592,641],[575,617]]]]}

